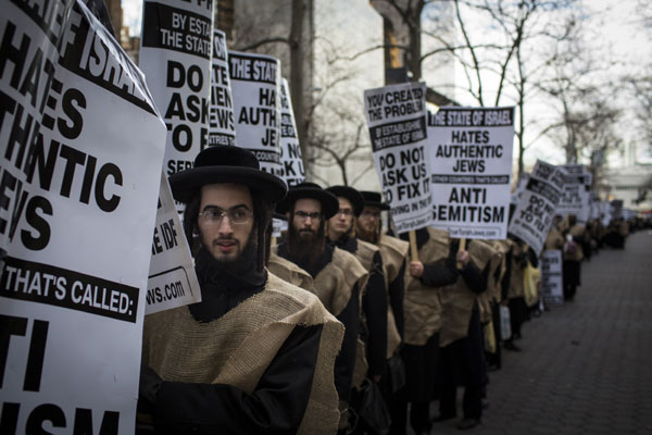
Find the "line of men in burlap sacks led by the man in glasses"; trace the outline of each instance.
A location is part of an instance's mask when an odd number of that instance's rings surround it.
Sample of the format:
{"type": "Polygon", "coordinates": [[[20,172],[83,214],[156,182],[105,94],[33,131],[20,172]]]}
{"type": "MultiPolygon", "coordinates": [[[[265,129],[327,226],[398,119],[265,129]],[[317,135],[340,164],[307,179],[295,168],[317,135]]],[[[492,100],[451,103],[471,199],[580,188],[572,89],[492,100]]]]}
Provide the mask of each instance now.
{"type": "Polygon", "coordinates": [[[383,231],[379,194],[287,191],[236,147],[170,183],[202,301],[146,318],[139,432],[423,434],[456,417],[459,385],[459,427],[480,422],[484,330],[518,244],[463,247],[427,227],[410,258],[409,235],[383,231]],[[272,246],[275,211],[288,232],[272,246]]]}

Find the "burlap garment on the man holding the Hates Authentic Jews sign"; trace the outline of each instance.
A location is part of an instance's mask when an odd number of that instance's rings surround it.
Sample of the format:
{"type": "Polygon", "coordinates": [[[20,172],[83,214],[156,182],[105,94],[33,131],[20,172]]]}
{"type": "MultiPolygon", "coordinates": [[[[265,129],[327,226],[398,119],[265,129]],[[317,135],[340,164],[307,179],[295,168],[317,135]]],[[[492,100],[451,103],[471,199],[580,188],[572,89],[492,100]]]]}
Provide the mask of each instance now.
{"type": "MultiPolygon", "coordinates": [[[[487,244],[473,240],[467,245],[471,260],[482,271],[487,263],[496,261],[496,251],[487,244]]],[[[462,276],[454,284],[441,288],[441,331],[439,332],[439,347],[444,347],[468,334],[468,324],[473,306],[478,299],[462,276]]]]}

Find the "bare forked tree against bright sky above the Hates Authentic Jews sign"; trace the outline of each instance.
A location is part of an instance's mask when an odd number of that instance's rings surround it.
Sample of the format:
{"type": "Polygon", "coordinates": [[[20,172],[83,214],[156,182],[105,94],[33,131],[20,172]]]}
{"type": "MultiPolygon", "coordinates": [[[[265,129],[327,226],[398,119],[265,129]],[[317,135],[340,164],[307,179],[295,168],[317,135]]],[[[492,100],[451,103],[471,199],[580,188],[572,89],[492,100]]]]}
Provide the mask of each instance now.
{"type": "Polygon", "coordinates": [[[537,98],[537,83],[546,75],[550,59],[539,47],[555,45],[573,36],[577,17],[576,0],[450,0],[454,8],[457,35],[442,32],[435,8],[428,15],[431,25],[424,32],[437,48],[422,54],[422,61],[437,57],[457,62],[464,80],[450,87],[479,105],[514,104],[518,146],[518,175],[524,170],[526,109],[537,98]]]}

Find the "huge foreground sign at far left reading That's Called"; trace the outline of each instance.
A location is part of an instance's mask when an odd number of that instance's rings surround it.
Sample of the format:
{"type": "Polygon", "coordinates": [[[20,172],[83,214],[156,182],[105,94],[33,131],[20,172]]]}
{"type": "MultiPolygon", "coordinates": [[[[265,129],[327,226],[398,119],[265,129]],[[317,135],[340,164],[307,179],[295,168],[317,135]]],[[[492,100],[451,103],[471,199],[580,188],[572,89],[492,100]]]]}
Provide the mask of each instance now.
{"type": "Polygon", "coordinates": [[[165,125],[83,1],[40,5],[0,15],[0,432],[133,434],[165,125]]]}

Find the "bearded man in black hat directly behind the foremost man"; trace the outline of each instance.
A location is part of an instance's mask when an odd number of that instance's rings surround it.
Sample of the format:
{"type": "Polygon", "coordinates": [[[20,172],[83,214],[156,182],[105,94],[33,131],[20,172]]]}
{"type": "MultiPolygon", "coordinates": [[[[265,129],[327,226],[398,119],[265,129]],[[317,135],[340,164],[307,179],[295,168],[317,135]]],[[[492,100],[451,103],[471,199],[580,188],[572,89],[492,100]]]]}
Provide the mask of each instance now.
{"type": "Polygon", "coordinates": [[[335,362],[335,386],[342,411],[340,428],[344,428],[358,347],[359,295],[367,273],[355,257],[325,243],[326,220],[337,212],[338,204],[336,197],[314,183],[292,186],[278,207],[288,214],[288,235],[277,253],[313,277],[315,294],[346,327],[335,362]]]}

